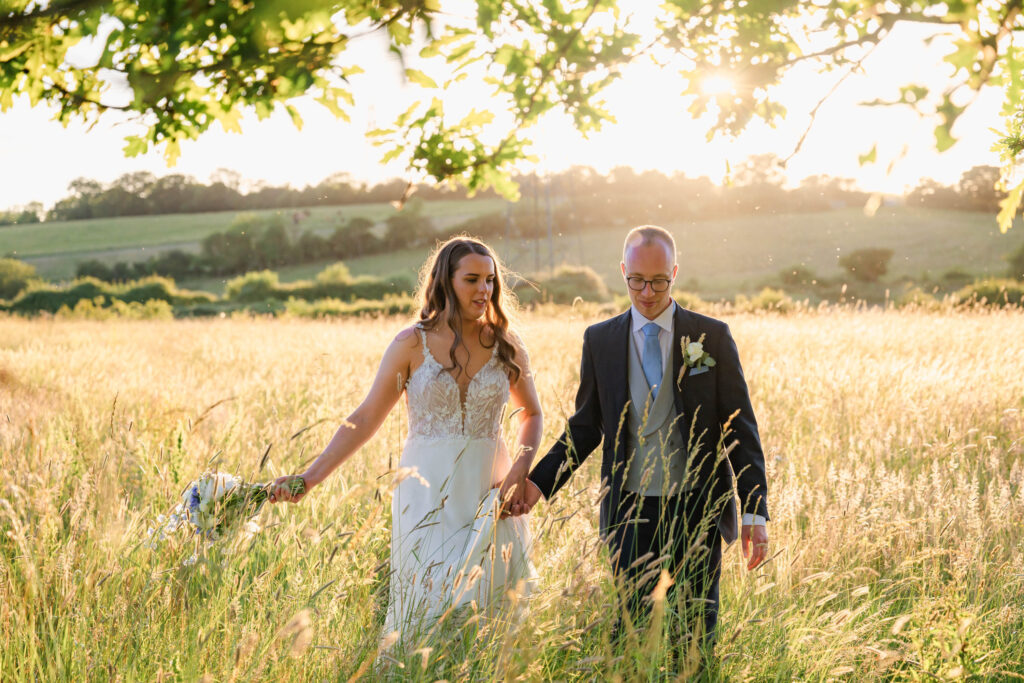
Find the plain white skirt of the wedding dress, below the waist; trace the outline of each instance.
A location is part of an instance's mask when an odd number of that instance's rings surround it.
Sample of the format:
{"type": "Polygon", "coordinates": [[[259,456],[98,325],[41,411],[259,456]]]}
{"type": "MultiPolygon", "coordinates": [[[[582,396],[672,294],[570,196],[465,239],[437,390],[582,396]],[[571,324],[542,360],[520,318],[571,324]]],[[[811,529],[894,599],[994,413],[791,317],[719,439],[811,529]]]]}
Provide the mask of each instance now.
{"type": "Polygon", "coordinates": [[[521,614],[536,571],[526,517],[499,518],[507,471],[500,439],[410,436],[391,501],[385,640],[409,642],[461,607],[521,614]]]}

